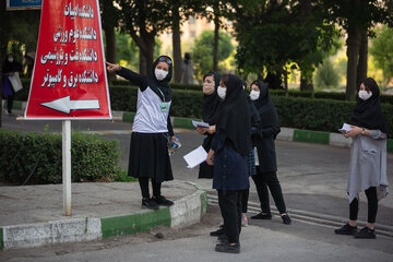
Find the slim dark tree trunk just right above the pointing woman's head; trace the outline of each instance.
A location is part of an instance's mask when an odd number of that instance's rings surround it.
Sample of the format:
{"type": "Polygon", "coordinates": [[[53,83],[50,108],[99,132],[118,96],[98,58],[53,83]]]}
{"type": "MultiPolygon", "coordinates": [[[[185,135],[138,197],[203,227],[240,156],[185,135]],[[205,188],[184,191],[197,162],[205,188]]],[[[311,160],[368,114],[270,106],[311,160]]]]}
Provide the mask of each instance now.
{"type": "Polygon", "coordinates": [[[174,71],[175,71],[175,83],[181,81],[181,39],[180,39],[180,16],[179,9],[174,9],[174,21],[172,21],[172,48],[174,48],[174,71]]]}

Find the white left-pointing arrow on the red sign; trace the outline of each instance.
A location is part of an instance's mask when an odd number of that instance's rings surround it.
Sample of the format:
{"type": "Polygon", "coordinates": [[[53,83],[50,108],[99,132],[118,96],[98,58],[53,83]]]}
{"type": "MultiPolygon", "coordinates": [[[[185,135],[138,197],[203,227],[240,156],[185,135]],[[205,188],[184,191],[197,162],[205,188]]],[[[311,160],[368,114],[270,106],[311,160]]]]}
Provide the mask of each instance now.
{"type": "Polygon", "coordinates": [[[52,102],[41,103],[40,105],[68,115],[71,110],[99,109],[98,99],[71,100],[70,96],[64,96],[52,102]]]}

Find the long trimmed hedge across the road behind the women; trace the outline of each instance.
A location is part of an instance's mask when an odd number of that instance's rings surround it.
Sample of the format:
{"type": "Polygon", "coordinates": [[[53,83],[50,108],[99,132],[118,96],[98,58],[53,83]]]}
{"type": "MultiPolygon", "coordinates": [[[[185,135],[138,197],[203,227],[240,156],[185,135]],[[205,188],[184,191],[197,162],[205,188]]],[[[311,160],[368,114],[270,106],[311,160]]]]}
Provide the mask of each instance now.
{"type": "MultiPolygon", "coordinates": [[[[283,91],[271,91],[272,98],[276,104],[283,127],[299,128],[315,131],[335,132],[343,122],[347,122],[355,106],[355,102],[341,100],[341,93],[323,92],[288,92],[284,96],[283,91]],[[314,98],[303,98],[314,97],[314,98]],[[325,99],[315,97],[335,97],[325,99]]],[[[384,96],[393,98],[393,96],[384,96]]],[[[390,99],[389,98],[389,99],[390,99]]],[[[114,110],[135,111],[138,99],[136,86],[111,86],[110,102],[114,110]]],[[[388,98],[386,98],[388,99],[388,98]]],[[[201,91],[174,90],[170,115],[176,117],[201,118],[203,94],[201,91]]],[[[392,102],[393,104],[393,102],[392,102]]],[[[393,138],[393,105],[382,104],[388,119],[389,136],[393,138]]]]}

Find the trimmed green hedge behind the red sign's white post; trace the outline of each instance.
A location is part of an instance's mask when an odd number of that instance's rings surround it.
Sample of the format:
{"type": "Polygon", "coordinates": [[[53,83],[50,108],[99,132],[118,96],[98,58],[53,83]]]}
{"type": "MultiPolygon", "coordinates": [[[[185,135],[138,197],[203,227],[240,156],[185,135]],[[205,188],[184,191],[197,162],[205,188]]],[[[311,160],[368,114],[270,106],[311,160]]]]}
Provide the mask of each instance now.
{"type": "MultiPolygon", "coordinates": [[[[0,130],[0,180],[22,184],[33,174],[29,184],[61,183],[61,146],[60,134],[0,130]]],[[[117,141],[73,133],[71,157],[72,182],[114,181],[121,176],[117,141]]]]}

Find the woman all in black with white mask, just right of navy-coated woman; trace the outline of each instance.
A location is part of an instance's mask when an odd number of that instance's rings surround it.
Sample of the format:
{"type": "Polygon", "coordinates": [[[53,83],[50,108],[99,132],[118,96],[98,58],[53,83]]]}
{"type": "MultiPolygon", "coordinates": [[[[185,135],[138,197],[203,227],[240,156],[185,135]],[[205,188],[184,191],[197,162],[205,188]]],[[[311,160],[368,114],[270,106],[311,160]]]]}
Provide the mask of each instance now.
{"type": "MultiPolygon", "coordinates": [[[[253,141],[258,151],[257,175],[252,176],[255,182],[262,212],[251,216],[252,219],[272,219],[269,204],[269,190],[272,193],[284,224],[290,224],[286,212],[284,196],[277,179],[277,162],[274,140],[279,133],[278,115],[269,94],[267,84],[254,81],[251,84],[253,104],[261,118],[261,135],[253,141]],[[267,190],[269,187],[269,190],[267,190]]],[[[255,156],[257,158],[257,156],[255,156]]]]}

